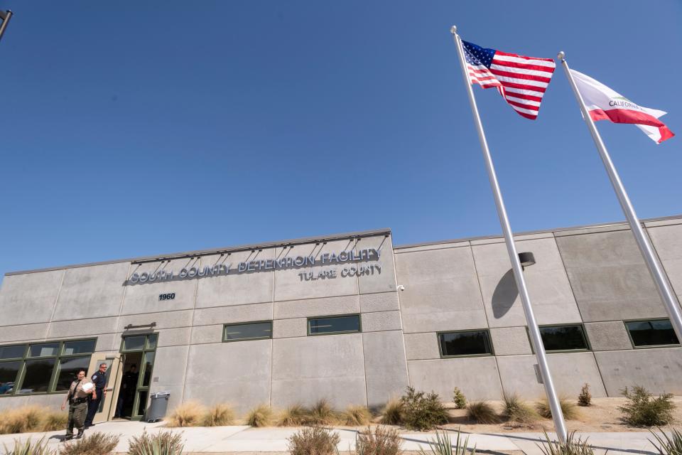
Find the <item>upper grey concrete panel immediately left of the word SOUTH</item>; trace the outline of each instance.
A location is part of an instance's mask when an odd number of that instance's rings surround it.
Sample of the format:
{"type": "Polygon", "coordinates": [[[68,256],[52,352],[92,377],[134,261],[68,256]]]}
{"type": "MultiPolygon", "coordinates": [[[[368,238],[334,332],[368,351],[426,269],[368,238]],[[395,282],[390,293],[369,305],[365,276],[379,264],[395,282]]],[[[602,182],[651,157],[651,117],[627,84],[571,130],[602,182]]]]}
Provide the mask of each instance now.
{"type": "Polygon", "coordinates": [[[67,269],[53,320],[117,316],[129,268],[119,262],[67,269]]]}

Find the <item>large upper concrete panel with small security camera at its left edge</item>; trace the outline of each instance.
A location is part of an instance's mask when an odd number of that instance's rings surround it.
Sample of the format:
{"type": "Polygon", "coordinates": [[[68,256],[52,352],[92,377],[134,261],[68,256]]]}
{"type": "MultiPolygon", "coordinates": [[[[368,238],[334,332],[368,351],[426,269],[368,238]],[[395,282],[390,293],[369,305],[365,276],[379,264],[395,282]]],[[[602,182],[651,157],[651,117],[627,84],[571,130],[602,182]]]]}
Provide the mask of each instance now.
{"type": "Polygon", "coordinates": [[[396,254],[405,333],[486,327],[470,248],[396,254]]]}

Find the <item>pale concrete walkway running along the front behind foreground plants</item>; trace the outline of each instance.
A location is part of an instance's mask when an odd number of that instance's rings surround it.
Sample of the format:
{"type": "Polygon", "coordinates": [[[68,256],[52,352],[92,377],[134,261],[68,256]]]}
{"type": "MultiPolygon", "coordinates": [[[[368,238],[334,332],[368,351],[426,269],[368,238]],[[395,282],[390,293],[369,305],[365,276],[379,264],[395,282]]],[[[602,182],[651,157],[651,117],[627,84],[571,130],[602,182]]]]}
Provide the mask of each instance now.
{"type": "MultiPolygon", "coordinates": [[[[106,422],[97,424],[87,430],[87,434],[103,432],[118,434],[120,437],[117,452],[125,453],[128,450],[129,439],[139,436],[144,431],[158,432],[164,429],[163,422],[147,424],[144,422],[106,422]]],[[[286,452],[287,439],[298,431],[297,428],[251,428],[246,426],[233,427],[193,427],[173,428],[174,433],[183,435],[185,452],[202,454],[225,454],[225,453],[254,453],[254,452],[286,452]]],[[[357,432],[350,429],[335,429],[341,438],[337,448],[347,452],[355,449],[355,437],[357,432]]],[[[0,435],[0,447],[11,448],[16,439],[21,442],[26,439],[37,440],[45,437],[49,441],[50,448],[58,449],[64,432],[47,433],[23,433],[0,435]]],[[[466,437],[467,434],[462,434],[466,437]]],[[[468,434],[469,447],[476,446],[477,452],[489,454],[529,454],[539,455],[541,450],[537,444],[543,438],[541,433],[504,433],[504,434],[468,434]]],[[[551,436],[553,436],[551,434],[551,436]]],[[[583,439],[589,438],[590,445],[595,447],[595,453],[604,454],[651,454],[656,455],[654,446],[651,445],[649,432],[632,433],[585,433],[580,434],[583,439]]],[[[405,451],[418,451],[421,447],[427,452],[428,441],[434,439],[431,433],[401,433],[404,439],[402,449],[405,451]]],[[[455,432],[450,432],[452,439],[456,438],[455,432]]],[[[453,441],[454,442],[454,441],[453,441]]]]}

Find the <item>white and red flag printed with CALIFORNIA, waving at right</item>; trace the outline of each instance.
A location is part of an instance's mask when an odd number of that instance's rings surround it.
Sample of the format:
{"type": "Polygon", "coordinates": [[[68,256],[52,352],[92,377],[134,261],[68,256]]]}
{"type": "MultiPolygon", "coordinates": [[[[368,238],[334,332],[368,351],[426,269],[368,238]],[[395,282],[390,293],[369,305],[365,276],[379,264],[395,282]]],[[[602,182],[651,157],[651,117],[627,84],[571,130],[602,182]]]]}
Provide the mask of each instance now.
{"type": "Polygon", "coordinates": [[[588,75],[570,70],[578,86],[580,95],[583,96],[585,107],[590,112],[592,120],[611,120],[614,123],[632,123],[641,129],[647,136],[661,144],[666,139],[675,136],[659,117],[666,114],[658,109],[649,109],[636,105],[618,92],[611,90],[598,80],[588,75]]]}

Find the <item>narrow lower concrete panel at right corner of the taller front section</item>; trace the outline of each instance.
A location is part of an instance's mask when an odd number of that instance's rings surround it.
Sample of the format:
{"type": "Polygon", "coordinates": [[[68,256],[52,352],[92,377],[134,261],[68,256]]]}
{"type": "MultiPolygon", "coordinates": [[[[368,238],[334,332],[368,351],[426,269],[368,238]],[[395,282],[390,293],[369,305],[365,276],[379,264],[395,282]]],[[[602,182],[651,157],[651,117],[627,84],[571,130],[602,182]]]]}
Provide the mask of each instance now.
{"type": "Polygon", "coordinates": [[[370,407],[379,407],[392,397],[402,395],[408,386],[403,334],[401,331],[363,333],[362,343],[367,403],[370,407]]]}

